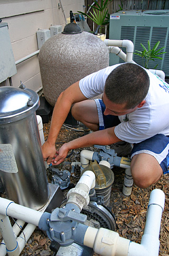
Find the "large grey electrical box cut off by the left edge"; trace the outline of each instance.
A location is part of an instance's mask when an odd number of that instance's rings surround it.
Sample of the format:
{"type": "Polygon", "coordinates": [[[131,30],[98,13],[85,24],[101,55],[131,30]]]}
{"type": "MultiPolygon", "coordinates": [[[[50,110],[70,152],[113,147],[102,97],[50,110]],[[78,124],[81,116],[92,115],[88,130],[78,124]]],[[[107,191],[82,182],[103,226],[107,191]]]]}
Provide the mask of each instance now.
{"type": "Polygon", "coordinates": [[[0,83],[17,73],[6,22],[0,22],[0,83]]]}

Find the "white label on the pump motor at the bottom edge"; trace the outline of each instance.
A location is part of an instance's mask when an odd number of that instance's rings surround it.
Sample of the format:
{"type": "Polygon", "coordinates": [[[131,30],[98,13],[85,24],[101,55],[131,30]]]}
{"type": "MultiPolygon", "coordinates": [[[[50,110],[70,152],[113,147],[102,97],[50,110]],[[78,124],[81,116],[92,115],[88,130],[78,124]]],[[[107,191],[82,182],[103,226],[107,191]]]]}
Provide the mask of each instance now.
{"type": "Polygon", "coordinates": [[[81,256],[82,252],[83,248],[80,245],[72,243],[67,247],[60,247],[57,256],[81,256]]]}

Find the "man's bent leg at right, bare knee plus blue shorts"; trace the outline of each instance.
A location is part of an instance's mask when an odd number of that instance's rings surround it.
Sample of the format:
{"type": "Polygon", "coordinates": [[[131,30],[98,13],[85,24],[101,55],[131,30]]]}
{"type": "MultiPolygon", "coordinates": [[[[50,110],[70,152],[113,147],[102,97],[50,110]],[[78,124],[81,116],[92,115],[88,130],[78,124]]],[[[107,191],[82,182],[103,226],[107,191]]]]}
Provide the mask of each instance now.
{"type": "Polygon", "coordinates": [[[134,183],[146,188],[168,173],[169,137],[163,134],[134,144],[131,152],[131,171],[134,183]]]}

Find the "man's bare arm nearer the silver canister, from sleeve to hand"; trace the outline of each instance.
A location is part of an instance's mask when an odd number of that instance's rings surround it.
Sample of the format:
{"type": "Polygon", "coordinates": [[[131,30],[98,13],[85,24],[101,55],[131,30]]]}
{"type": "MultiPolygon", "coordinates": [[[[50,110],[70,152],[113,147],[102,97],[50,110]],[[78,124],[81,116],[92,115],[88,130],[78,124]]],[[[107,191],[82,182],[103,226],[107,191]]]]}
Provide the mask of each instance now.
{"type": "Polygon", "coordinates": [[[47,160],[48,164],[51,163],[56,153],[55,141],[65,118],[67,118],[71,105],[85,99],[87,98],[80,91],[79,82],[73,83],[65,91],[61,92],[54,106],[48,139],[42,146],[43,158],[45,161],[47,160]]]}

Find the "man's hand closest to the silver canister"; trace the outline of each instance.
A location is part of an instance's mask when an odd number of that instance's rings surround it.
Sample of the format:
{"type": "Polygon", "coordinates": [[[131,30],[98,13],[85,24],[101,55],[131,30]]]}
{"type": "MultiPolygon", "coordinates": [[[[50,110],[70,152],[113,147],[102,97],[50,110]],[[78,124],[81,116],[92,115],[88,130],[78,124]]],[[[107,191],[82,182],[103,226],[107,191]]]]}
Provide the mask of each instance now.
{"type": "Polygon", "coordinates": [[[54,161],[53,157],[56,156],[56,152],[55,145],[51,145],[48,140],[44,142],[42,146],[43,159],[47,161],[48,165],[54,161]]]}

